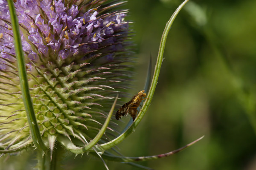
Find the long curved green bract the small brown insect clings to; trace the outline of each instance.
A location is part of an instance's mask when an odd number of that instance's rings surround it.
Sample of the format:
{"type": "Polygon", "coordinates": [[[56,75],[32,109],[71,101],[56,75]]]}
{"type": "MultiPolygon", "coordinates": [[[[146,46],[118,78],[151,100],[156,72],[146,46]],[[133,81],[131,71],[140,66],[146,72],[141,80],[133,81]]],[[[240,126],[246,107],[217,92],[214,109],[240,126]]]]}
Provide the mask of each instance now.
{"type": "Polygon", "coordinates": [[[157,63],[155,65],[153,79],[152,79],[151,86],[150,86],[148,96],[147,96],[148,99],[146,99],[146,101],[144,102],[144,105],[143,105],[139,115],[135,119],[134,123],[124,133],[122,133],[120,136],[118,136],[117,138],[113,139],[110,142],[101,144],[99,147],[99,151],[108,150],[108,149],[116,146],[116,144],[119,144],[120,142],[122,142],[122,140],[124,140],[128,135],[130,135],[134,131],[134,129],[137,127],[137,125],[140,123],[141,119],[143,118],[145,112],[148,110],[148,107],[149,107],[151,100],[153,98],[153,95],[154,95],[155,88],[157,86],[157,79],[159,77],[160,68],[161,68],[162,61],[163,61],[163,52],[164,52],[168,32],[169,32],[169,30],[172,26],[172,23],[175,20],[177,14],[179,13],[181,8],[183,8],[183,6],[188,1],[189,0],[185,0],[182,4],[180,4],[180,6],[176,9],[176,11],[172,14],[172,17],[170,18],[170,20],[166,23],[166,27],[163,31],[163,35],[162,35],[161,42],[160,42],[160,48],[159,48],[159,52],[158,52],[158,56],[157,56],[157,63]]]}

